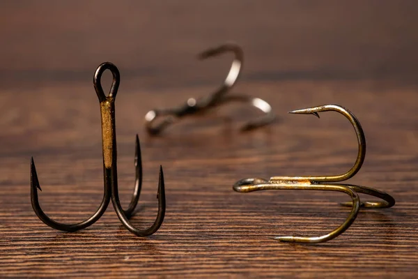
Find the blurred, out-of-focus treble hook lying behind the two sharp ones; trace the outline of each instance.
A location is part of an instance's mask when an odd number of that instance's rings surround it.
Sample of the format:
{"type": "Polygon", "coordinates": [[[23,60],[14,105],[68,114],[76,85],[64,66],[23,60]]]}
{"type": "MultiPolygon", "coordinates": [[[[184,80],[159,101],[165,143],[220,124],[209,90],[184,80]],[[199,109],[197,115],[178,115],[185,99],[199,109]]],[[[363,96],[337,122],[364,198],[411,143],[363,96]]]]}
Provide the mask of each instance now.
{"type": "Polygon", "coordinates": [[[184,105],[180,105],[179,107],[150,110],[145,116],[146,130],[150,135],[161,133],[167,126],[179,121],[185,116],[207,112],[213,107],[230,102],[249,103],[251,106],[256,107],[264,113],[263,116],[245,123],[240,128],[242,131],[265,126],[274,121],[275,116],[272,112],[272,107],[265,100],[245,95],[226,95],[237,82],[244,62],[244,52],[239,45],[235,43],[225,43],[224,45],[210,48],[201,52],[198,55],[198,59],[208,59],[209,57],[218,56],[226,52],[233,52],[234,59],[232,61],[231,69],[219,89],[206,97],[198,99],[189,98],[184,105]],[[159,123],[155,123],[160,116],[163,116],[164,118],[159,123]]]}

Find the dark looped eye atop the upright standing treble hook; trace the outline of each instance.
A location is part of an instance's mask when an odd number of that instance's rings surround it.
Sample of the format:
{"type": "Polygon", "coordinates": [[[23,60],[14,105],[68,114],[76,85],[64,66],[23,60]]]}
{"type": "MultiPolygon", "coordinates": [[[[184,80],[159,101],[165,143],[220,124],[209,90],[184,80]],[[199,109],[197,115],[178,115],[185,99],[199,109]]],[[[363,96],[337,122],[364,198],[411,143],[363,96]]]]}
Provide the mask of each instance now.
{"type": "Polygon", "coordinates": [[[104,91],[102,88],[102,75],[105,70],[110,70],[111,75],[113,75],[113,81],[111,82],[111,87],[109,90],[110,98],[116,98],[116,94],[118,93],[119,83],[121,82],[121,75],[119,74],[118,68],[111,62],[104,62],[98,66],[97,70],[94,73],[93,77],[93,84],[96,94],[98,95],[99,102],[102,103],[106,100],[107,96],[104,95],[104,91]]]}

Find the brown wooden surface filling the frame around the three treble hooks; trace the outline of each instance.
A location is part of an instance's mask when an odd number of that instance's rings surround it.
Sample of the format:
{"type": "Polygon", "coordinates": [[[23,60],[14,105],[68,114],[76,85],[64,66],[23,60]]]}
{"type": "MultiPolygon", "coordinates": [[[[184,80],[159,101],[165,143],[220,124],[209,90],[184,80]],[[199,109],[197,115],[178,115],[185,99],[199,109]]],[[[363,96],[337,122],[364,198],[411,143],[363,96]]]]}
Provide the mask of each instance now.
{"type": "MultiPolygon", "coordinates": [[[[2,1],[0,3],[0,277],[414,278],[418,271],[418,5],[415,1],[2,1]],[[117,5],[117,6],[116,6],[117,5]],[[256,116],[226,106],[148,137],[153,107],[203,96],[230,57],[196,53],[226,40],[245,48],[234,89],[268,100],[269,128],[239,133],[256,116]],[[75,233],[44,225],[31,209],[29,162],[36,160],[42,209],[68,223],[102,197],[100,111],[95,68],[121,71],[116,100],[118,176],[127,206],[139,133],[144,186],[134,224],[156,214],[161,164],[167,213],[138,238],[112,206],[75,233]],[[355,160],[343,116],[286,114],[338,103],[366,133],[366,161],[349,181],[392,194],[392,209],[362,209],[338,238],[319,245],[273,236],[317,236],[343,222],[343,194],[240,194],[238,179],[336,174],[355,160]],[[318,132],[320,128],[320,132],[318,132]]],[[[104,76],[110,84],[110,75],[104,76]]],[[[362,196],[362,198],[364,198],[362,196]]]]}

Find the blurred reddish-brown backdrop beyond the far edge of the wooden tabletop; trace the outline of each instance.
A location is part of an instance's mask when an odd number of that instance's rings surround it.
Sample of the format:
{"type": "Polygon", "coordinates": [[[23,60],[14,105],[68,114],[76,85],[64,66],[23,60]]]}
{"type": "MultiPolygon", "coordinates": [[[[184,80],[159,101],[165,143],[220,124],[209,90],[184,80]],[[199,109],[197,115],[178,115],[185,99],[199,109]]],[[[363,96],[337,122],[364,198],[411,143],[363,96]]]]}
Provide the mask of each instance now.
{"type": "Polygon", "coordinates": [[[103,61],[125,88],[213,84],[228,65],[196,54],[227,40],[242,80],[415,86],[417,14],[414,0],[1,1],[0,89],[91,82],[103,61]]]}

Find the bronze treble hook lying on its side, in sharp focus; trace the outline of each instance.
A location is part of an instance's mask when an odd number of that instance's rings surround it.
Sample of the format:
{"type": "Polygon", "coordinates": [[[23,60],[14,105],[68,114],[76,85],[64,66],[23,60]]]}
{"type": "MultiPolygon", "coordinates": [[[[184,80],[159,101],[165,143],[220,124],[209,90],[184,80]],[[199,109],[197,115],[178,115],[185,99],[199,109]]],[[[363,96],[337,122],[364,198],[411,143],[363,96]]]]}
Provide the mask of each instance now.
{"type": "Polygon", "coordinates": [[[318,112],[339,112],[346,116],[346,118],[353,125],[357,135],[358,152],[357,159],[353,167],[347,172],[339,175],[330,176],[272,176],[270,180],[266,179],[241,179],[233,185],[233,190],[240,193],[253,192],[257,190],[330,190],[339,191],[350,195],[353,202],[344,203],[344,206],[352,206],[350,215],[346,221],[334,229],[329,234],[318,237],[300,237],[300,236],[277,236],[274,239],[286,242],[300,242],[300,243],[320,243],[334,239],[336,236],[342,234],[354,222],[360,206],[368,208],[389,208],[394,206],[395,199],[380,190],[369,187],[357,186],[351,184],[334,183],[345,181],[355,176],[362,167],[364,158],[366,156],[366,138],[359,121],[355,115],[339,105],[321,105],[319,107],[309,107],[303,110],[293,110],[292,114],[314,114],[319,118],[318,112]],[[382,202],[360,202],[357,193],[363,193],[382,199],[382,202]]]}

